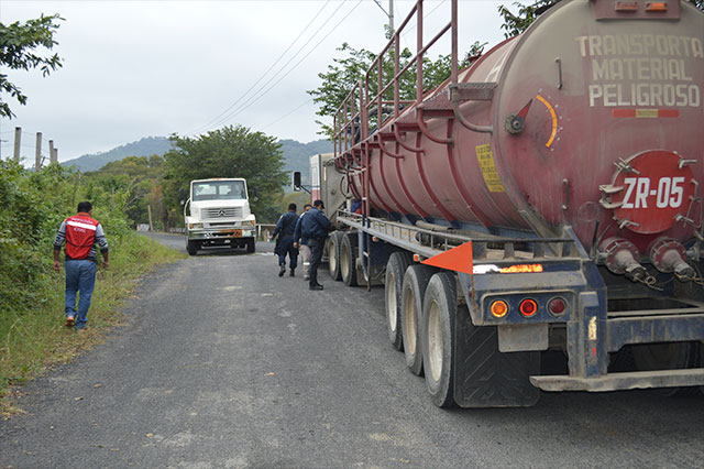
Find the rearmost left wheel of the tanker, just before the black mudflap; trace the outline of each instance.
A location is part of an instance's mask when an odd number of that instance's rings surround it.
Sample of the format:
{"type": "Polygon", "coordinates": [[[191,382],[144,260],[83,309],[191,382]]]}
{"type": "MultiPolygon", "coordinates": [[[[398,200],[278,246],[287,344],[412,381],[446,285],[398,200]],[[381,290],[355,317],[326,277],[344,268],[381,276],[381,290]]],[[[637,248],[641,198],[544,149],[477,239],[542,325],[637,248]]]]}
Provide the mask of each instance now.
{"type": "Polygon", "coordinates": [[[453,274],[430,277],[422,303],[422,364],[426,385],[438,407],[454,405],[454,315],[457,287],[453,274]]]}

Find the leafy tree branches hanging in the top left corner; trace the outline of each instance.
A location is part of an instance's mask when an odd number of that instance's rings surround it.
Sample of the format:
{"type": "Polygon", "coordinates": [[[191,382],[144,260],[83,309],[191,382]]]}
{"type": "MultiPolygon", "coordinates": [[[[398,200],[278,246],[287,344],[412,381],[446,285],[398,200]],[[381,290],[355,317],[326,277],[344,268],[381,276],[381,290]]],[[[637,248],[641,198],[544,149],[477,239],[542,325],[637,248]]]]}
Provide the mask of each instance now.
{"type": "MultiPolygon", "coordinates": [[[[35,53],[37,47],[51,50],[56,44],[54,33],[58,29],[56,20],[63,20],[58,14],[40,17],[28,20],[25,23],[15,21],[6,26],[0,23],[0,66],[11,69],[24,69],[40,67],[42,74],[47,76],[52,70],[62,66],[58,54],[42,56],[35,53]]],[[[26,103],[26,96],[14,84],[8,81],[8,76],[0,74],[0,92],[8,92],[21,105],[26,103]]],[[[10,106],[0,98],[0,117],[12,119],[14,113],[10,106]]]]}

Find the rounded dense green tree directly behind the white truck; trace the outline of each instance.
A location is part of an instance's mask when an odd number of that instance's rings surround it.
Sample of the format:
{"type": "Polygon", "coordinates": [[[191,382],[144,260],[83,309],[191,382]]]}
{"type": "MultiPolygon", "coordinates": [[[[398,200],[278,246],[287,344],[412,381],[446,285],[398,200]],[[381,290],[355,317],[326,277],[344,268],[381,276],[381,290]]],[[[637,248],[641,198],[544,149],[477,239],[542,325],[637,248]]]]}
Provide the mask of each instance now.
{"type": "Polygon", "coordinates": [[[224,127],[197,138],[172,135],[175,150],[166,153],[166,199],[178,207],[178,189],[193,179],[244,177],[257,220],[276,219],[276,200],[286,183],[284,157],[276,139],[242,126],[224,127]],[[256,190],[256,194],[255,194],[256,190]]]}

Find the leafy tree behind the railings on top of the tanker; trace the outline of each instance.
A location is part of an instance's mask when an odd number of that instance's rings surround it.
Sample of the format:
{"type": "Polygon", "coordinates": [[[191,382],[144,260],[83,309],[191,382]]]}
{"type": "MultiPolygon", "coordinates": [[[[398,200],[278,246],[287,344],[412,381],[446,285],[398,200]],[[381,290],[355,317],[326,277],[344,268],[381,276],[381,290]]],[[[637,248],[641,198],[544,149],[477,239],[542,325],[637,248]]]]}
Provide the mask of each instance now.
{"type": "MultiPolygon", "coordinates": [[[[482,50],[486,43],[475,42],[470,46],[469,53],[460,62],[460,68],[466,67],[471,62],[481,55],[482,50]]],[[[334,57],[332,64],[328,65],[327,73],[319,73],[318,77],[322,80],[322,84],[316,88],[307,91],[314,97],[314,102],[319,105],[316,113],[323,118],[332,118],[350,95],[350,91],[356,86],[360,80],[365,78],[365,75],[372,64],[376,61],[377,55],[366,51],[364,48],[356,50],[348,43],[343,43],[338,47],[338,51],[344,53],[342,57],[334,57]]],[[[399,68],[404,68],[413,53],[408,48],[404,48],[399,54],[399,68]]],[[[394,77],[394,51],[384,56],[382,62],[382,81],[384,85],[388,84],[394,77]]],[[[436,61],[429,57],[422,59],[422,88],[424,91],[430,90],[438,85],[442,84],[450,77],[451,74],[451,57],[450,55],[440,55],[436,61]]],[[[378,72],[376,69],[370,72],[370,97],[377,94],[378,88],[378,72]]],[[[416,99],[416,67],[413,66],[406,70],[399,79],[399,97],[400,99],[416,99]]],[[[384,94],[384,100],[394,99],[394,89],[391,87],[384,94]]],[[[375,124],[376,116],[370,117],[371,124],[375,124]]],[[[321,131],[318,133],[332,137],[332,127],[316,121],[321,131]]]]}

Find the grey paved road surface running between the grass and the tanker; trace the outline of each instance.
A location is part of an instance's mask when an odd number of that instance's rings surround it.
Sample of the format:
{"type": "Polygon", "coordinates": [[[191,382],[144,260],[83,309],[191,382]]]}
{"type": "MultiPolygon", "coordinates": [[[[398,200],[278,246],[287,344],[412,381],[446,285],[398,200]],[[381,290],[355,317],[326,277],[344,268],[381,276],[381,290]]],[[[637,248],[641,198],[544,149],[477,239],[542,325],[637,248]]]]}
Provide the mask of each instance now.
{"type": "Polygon", "coordinates": [[[24,388],[28,414],[0,422],[0,468],[704,465],[702,395],[439,410],[387,343],[383,290],[323,273],[308,292],[276,276],[271,248],[204,251],[145,279],[125,327],[24,388]]]}

